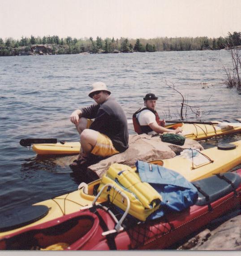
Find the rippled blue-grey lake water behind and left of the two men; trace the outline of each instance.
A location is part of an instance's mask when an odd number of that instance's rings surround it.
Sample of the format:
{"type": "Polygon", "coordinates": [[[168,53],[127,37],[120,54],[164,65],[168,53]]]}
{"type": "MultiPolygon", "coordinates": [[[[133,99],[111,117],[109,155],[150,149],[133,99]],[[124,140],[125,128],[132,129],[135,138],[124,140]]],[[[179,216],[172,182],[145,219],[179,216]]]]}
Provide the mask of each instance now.
{"type": "MultiPolygon", "coordinates": [[[[190,106],[200,107],[203,121],[241,118],[241,95],[224,85],[223,66],[232,66],[224,50],[0,57],[0,211],[77,189],[79,179],[69,166],[60,165],[63,158],[37,157],[19,141],[78,141],[69,115],[93,102],[87,96],[93,82],[108,85],[128,119],[149,92],[159,97],[161,117],[179,119],[181,96],[166,83],[174,84],[190,106]]],[[[196,120],[190,109],[187,119],[196,120]]],[[[234,135],[219,141],[240,139],[234,135]]],[[[202,145],[216,146],[217,141],[202,145]]]]}

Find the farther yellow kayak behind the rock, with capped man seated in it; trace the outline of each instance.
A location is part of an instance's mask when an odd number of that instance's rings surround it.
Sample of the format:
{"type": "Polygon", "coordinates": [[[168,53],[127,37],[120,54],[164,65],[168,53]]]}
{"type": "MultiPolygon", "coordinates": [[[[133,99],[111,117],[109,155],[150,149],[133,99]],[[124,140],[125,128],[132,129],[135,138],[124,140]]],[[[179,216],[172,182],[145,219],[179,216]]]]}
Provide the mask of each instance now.
{"type": "MultiPolygon", "coordinates": [[[[241,123],[226,123],[213,121],[213,124],[170,124],[166,128],[182,128],[182,134],[193,140],[204,140],[210,137],[241,132],[241,123]]],[[[33,150],[37,154],[78,154],[80,151],[79,142],[33,144],[33,150]]]]}

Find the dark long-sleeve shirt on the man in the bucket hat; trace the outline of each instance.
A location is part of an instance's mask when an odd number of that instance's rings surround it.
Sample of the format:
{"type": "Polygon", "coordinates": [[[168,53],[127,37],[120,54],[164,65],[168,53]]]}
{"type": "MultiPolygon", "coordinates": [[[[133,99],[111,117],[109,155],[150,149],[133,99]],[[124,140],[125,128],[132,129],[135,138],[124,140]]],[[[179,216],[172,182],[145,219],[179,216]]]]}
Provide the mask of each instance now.
{"type": "Polygon", "coordinates": [[[82,117],[95,119],[90,129],[107,135],[116,150],[123,152],[128,148],[128,124],[125,112],[119,103],[109,97],[103,104],[93,104],[81,109],[82,117]]]}

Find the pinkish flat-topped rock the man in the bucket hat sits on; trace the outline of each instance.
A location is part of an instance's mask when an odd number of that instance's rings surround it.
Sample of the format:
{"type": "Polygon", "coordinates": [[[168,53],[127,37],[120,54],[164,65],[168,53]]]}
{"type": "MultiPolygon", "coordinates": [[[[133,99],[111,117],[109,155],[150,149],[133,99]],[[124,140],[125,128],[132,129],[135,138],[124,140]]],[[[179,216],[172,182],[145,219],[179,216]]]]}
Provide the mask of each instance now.
{"type": "Polygon", "coordinates": [[[152,161],[158,159],[172,158],[186,148],[203,150],[203,147],[194,140],[185,140],[183,146],[162,142],[159,136],[150,135],[129,135],[129,148],[125,152],[113,155],[99,163],[90,165],[89,171],[95,172],[98,177],[102,177],[112,163],[122,163],[129,166],[135,165],[137,160],[152,161]]]}

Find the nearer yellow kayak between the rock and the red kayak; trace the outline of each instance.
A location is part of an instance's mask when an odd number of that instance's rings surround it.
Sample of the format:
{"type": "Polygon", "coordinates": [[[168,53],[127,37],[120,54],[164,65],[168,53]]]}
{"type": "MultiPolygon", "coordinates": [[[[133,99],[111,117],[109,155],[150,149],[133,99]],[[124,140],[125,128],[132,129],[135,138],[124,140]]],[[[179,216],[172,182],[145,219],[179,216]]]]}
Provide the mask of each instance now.
{"type": "MultiPolygon", "coordinates": [[[[221,150],[218,147],[202,150],[201,153],[194,152],[194,157],[189,155],[179,155],[172,159],[155,160],[149,163],[159,164],[165,168],[181,173],[187,180],[195,181],[209,177],[215,173],[228,172],[232,168],[241,163],[241,141],[232,142],[236,146],[235,149],[221,150]]],[[[133,167],[135,169],[135,167],[133,167]]],[[[85,187],[53,199],[49,199],[34,205],[44,205],[48,207],[48,212],[43,218],[34,221],[23,227],[14,230],[8,230],[0,233],[0,236],[13,233],[13,231],[21,230],[25,227],[50,221],[57,217],[78,211],[81,207],[89,205],[94,199],[94,190],[97,191],[100,179],[85,184],[85,187]],[[86,192],[87,190],[87,192],[86,192]]],[[[99,198],[98,202],[104,199],[99,198]]]]}

